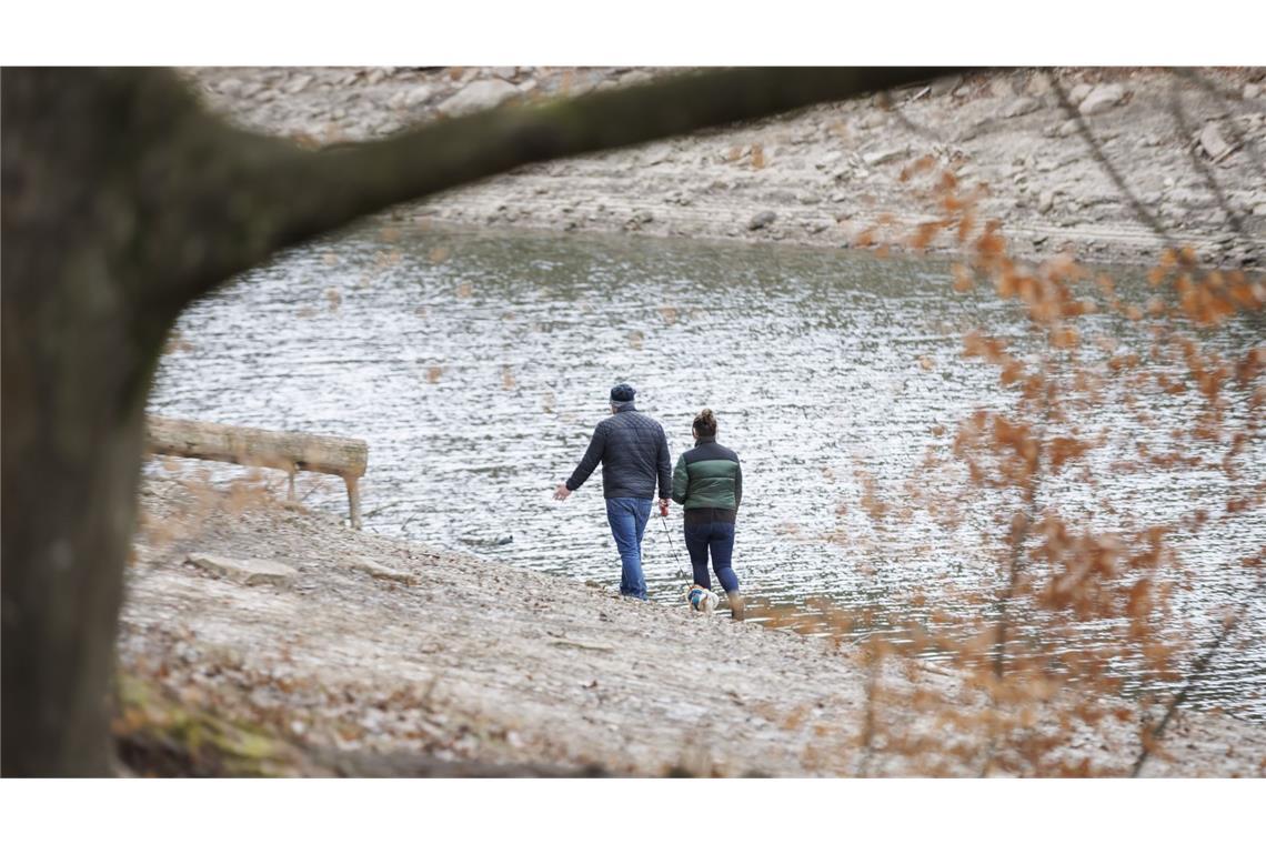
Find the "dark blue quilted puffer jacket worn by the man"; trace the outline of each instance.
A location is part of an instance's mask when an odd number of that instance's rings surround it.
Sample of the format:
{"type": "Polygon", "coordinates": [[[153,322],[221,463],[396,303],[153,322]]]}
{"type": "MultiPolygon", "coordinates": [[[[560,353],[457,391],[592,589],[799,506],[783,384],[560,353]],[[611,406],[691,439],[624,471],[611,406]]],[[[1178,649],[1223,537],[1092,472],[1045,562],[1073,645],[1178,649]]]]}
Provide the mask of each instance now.
{"type": "Polygon", "coordinates": [[[656,481],[661,499],[672,493],[668,438],[660,423],[634,410],[632,402],[598,423],[567,488],[579,490],[599,462],[604,499],[653,499],[656,481]]]}

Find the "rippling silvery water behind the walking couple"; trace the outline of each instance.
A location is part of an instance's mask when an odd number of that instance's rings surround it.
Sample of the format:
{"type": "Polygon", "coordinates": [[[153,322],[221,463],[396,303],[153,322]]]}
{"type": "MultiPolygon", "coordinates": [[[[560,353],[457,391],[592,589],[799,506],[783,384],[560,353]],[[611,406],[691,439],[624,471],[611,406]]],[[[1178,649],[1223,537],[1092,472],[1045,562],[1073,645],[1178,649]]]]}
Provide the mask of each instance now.
{"type": "MultiPolygon", "coordinates": [[[[942,262],[370,228],[249,277],[182,318],[187,348],[165,358],[151,410],[368,440],[368,529],[618,583],[600,473],[565,504],[551,493],[606,413],[608,390],[627,380],[663,423],[674,459],[691,444],[694,414],[717,411],[719,440],[743,459],[736,569],[758,602],[828,597],[899,617],[917,591],[984,585],[996,571],[929,521],[877,535],[856,506],[857,468],[899,496],[957,420],[1005,405],[995,372],[963,363],[961,338],[984,324],[1023,343],[1023,326],[995,297],[952,295],[942,262]]],[[[1224,342],[1248,348],[1257,338],[1246,330],[1224,342]]],[[[1156,411],[1163,419],[1166,407],[1156,411]]],[[[1117,421],[1128,438],[1133,423],[1117,421]]],[[[341,483],[304,482],[310,506],[346,515],[341,483]]],[[[1148,519],[1225,500],[1215,473],[1112,483],[1114,500],[1148,519]]],[[[1062,493],[1070,507],[1086,504],[1062,493]]],[[[690,567],[665,526],[655,518],[647,530],[647,583],[652,600],[677,601],[690,567]]],[[[1258,514],[1184,548],[1199,572],[1184,597],[1195,630],[1212,630],[1215,607],[1251,588],[1225,563],[1263,537],[1258,514]]],[[[1263,605],[1198,702],[1266,717],[1263,605]]]]}

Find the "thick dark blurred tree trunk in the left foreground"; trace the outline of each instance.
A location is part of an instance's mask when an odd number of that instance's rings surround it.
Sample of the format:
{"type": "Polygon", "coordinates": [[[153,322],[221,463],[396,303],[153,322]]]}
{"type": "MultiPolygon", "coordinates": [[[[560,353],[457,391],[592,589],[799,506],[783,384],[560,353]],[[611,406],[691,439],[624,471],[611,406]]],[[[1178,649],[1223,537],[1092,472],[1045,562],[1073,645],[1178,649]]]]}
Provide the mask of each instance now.
{"type": "Polygon", "coordinates": [[[144,400],[175,311],[132,292],[138,233],[114,148],[134,140],[127,96],[91,76],[3,80],[0,767],[104,776],[144,400]]]}

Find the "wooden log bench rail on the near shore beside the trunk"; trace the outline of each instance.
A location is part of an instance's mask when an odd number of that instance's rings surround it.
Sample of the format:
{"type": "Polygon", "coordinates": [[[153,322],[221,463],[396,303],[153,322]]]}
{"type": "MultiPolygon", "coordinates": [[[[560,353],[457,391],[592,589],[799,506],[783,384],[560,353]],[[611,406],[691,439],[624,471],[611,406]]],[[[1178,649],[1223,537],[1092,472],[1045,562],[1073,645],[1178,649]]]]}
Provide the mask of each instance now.
{"type": "Polygon", "coordinates": [[[146,448],[152,454],[281,469],[290,475],[291,497],[296,472],[337,475],[347,486],[352,526],[361,526],[360,478],[370,459],[363,439],[147,416],[146,448]]]}

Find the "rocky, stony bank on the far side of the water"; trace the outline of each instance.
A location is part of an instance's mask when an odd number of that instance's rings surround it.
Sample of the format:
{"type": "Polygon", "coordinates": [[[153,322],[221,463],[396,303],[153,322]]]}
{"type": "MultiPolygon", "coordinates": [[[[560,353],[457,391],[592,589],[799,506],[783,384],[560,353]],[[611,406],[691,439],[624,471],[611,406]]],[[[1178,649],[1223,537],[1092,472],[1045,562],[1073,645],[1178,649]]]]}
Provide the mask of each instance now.
{"type": "MultiPolygon", "coordinates": [[[[666,68],[189,68],[254,130],[320,146],[424,119],[652,78],[666,68]]],[[[530,166],[398,214],[561,232],[905,248],[934,211],[924,156],[987,186],[1018,256],[1266,258],[1266,70],[971,73],[795,115],[530,166]]],[[[960,249],[942,235],[933,252],[960,249]]]]}

